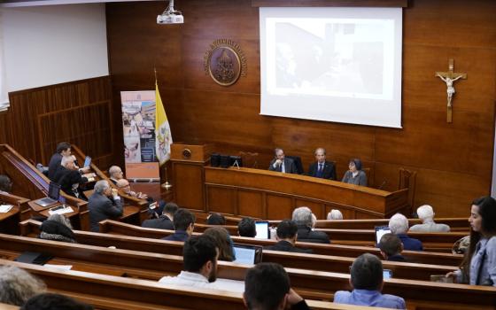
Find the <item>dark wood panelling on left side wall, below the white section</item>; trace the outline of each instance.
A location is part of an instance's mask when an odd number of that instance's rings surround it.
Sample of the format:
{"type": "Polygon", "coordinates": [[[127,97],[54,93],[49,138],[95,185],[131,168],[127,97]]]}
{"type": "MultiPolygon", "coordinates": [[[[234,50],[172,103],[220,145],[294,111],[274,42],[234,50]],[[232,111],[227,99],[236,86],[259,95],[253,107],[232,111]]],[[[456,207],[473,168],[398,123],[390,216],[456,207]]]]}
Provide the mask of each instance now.
{"type": "Polygon", "coordinates": [[[48,165],[61,141],[77,144],[105,169],[122,157],[114,147],[122,129],[113,129],[109,76],[12,92],[10,100],[9,110],[0,113],[0,143],[26,159],[48,165]]]}

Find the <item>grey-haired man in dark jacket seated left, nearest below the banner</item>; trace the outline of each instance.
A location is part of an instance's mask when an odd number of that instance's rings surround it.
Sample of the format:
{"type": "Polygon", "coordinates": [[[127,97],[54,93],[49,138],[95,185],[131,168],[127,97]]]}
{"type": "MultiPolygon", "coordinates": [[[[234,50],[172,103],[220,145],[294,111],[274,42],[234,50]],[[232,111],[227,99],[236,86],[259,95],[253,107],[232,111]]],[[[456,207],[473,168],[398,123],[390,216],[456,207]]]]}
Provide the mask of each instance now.
{"type": "Polygon", "coordinates": [[[89,223],[91,231],[98,232],[98,222],[118,218],[124,209],[117,189],[112,189],[105,180],[95,184],[95,192],[89,197],[89,223]]]}

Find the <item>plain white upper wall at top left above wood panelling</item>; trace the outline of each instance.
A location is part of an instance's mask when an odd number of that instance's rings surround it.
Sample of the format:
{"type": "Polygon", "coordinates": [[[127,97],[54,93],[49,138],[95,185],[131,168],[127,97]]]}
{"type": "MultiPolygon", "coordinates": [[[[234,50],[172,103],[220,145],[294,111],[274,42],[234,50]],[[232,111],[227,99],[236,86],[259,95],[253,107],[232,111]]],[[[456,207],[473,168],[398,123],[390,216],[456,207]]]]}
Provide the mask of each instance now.
{"type": "Polygon", "coordinates": [[[2,10],[9,92],[108,75],[105,4],[2,10]]]}

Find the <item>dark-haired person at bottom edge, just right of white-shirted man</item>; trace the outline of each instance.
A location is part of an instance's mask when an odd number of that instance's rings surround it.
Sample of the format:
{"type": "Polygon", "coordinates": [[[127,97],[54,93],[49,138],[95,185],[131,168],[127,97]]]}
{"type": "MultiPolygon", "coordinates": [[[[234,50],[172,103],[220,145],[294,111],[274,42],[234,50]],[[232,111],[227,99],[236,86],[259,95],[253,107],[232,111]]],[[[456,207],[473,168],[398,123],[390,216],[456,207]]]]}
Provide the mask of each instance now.
{"type": "Polygon", "coordinates": [[[290,277],[275,263],[260,263],[244,277],[244,305],[250,310],[310,309],[296,291],[290,277]]]}

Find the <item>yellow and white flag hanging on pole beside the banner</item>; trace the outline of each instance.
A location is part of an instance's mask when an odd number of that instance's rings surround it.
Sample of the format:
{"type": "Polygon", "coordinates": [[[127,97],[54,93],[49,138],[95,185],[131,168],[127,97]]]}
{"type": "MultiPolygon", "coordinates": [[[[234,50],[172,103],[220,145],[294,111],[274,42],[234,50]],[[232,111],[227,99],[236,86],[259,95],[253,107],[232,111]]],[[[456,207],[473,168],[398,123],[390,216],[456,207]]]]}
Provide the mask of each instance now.
{"type": "Polygon", "coordinates": [[[159,159],[159,165],[162,166],[170,159],[170,145],[172,144],[172,134],[167,120],[166,110],[160,98],[159,85],[155,81],[155,151],[159,159]]]}

